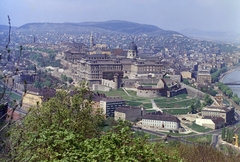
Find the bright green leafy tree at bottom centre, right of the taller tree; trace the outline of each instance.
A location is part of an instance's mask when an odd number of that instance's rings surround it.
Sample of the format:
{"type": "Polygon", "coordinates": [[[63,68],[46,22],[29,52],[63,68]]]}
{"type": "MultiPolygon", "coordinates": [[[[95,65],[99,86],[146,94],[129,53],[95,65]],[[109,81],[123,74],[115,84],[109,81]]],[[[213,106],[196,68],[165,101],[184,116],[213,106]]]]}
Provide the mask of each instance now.
{"type": "Polygon", "coordinates": [[[136,137],[129,127],[117,130],[84,141],[79,150],[79,161],[180,161],[178,155],[167,155],[163,151],[164,145],[150,144],[146,137],[136,137]]]}

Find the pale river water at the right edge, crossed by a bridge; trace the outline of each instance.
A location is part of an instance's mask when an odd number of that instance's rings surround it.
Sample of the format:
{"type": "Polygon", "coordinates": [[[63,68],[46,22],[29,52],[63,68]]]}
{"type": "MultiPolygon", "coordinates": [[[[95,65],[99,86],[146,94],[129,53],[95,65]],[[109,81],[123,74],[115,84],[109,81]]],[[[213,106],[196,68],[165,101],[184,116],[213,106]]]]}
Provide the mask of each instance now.
{"type": "MultiPolygon", "coordinates": [[[[229,82],[239,82],[240,83],[240,69],[235,69],[232,72],[227,73],[223,79],[223,83],[229,83],[229,82]]],[[[232,89],[234,94],[237,94],[238,97],[240,97],[240,85],[229,85],[229,88],[232,89]]]]}

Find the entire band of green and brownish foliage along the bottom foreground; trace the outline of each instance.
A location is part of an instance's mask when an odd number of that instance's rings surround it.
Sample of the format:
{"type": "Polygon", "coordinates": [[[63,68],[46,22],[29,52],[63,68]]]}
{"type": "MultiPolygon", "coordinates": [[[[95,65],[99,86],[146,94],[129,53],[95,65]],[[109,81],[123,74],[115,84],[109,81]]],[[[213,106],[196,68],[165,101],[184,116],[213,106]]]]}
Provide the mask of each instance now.
{"type": "Polygon", "coordinates": [[[104,133],[103,116],[92,108],[91,93],[59,91],[55,98],[32,108],[14,125],[0,161],[234,161],[211,147],[150,143],[121,122],[104,133]]]}

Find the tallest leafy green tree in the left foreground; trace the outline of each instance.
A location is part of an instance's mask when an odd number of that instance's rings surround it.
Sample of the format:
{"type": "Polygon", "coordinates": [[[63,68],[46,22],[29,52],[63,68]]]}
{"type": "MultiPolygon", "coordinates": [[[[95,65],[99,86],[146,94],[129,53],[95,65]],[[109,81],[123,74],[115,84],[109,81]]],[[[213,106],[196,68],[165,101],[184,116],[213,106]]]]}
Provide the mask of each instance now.
{"type": "Polygon", "coordinates": [[[84,140],[100,136],[103,115],[93,111],[90,91],[81,85],[75,92],[70,96],[66,91],[58,91],[55,98],[32,107],[24,120],[12,127],[10,158],[63,160],[77,156],[75,153],[84,140]]]}

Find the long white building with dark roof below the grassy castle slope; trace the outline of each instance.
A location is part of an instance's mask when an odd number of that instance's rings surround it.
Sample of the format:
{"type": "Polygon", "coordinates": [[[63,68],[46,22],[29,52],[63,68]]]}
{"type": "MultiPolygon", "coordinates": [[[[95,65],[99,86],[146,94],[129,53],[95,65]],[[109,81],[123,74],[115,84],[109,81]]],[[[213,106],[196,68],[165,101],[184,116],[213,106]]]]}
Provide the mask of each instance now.
{"type": "Polygon", "coordinates": [[[180,120],[173,115],[160,112],[145,114],[142,118],[142,128],[178,131],[180,120]]]}

